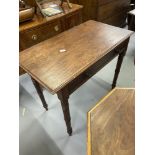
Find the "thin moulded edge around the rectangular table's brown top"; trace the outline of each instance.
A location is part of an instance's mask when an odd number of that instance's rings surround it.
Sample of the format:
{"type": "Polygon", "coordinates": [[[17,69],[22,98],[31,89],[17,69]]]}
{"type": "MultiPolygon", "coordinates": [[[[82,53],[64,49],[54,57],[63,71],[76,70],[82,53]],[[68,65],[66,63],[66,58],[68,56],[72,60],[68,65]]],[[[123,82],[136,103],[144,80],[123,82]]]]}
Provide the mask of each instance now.
{"type": "MultiPolygon", "coordinates": [[[[94,22],[94,20],[89,20],[89,21],[87,21],[87,22],[94,22]]],[[[85,22],[85,23],[87,23],[87,22],[85,22]]],[[[95,21],[95,22],[97,22],[97,21],[95,21]]],[[[85,23],[81,23],[80,25],[82,25],[82,24],[85,24],[85,23]]],[[[97,22],[97,23],[101,23],[101,22],[97,22]]],[[[104,23],[103,23],[104,24],[104,23]]],[[[78,26],[80,26],[80,25],[78,25],[78,26]]],[[[105,24],[105,25],[108,25],[108,24],[105,24]]],[[[78,27],[78,26],[75,26],[75,27],[78,27]]],[[[111,25],[110,25],[111,26],[111,25]]],[[[74,27],[74,28],[75,28],[74,27]]],[[[112,27],[114,27],[114,26],[112,26],[112,27]]],[[[69,29],[69,30],[67,30],[67,31],[70,31],[71,29],[69,29]]],[[[63,33],[66,33],[67,31],[64,31],[64,32],[62,32],[61,34],[58,34],[57,36],[55,36],[55,37],[58,37],[59,35],[62,35],[63,33]]],[[[37,82],[39,82],[43,87],[45,87],[49,92],[51,92],[53,95],[55,94],[55,93],[57,93],[58,91],[60,91],[63,87],[65,87],[68,83],[70,83],[72,80],[74,80],[77,76],[79,76],[82,72],[84,72],[86,69],[88,69],[89,67],[91,67],[94,63],[96,63],[97,61],[99,61],[103,56],[105,56],[106,54],[108,54],[110,51],[112,51],[113,49],[115,49],[118,45],[120,45],[121,43],[123,43],[125,40],[127,40],[127,39],[129,39],[130,38],[130,36],[134,33],[133,31],[130,31],[130,30],[126,30],[126,31],[129,31],[130,33],[126,36],[126,37],[124,37],[123,39],[121,39],[119,42],[117,42],[117,44],[115,44],[113,47],[111,47],[111,48],[109,48],[108,50],[107,50],[107,52],[106,53],[104,53],[104,54],[101,54],[97,59],[95,59],[94,61],[92,61],[91,63],[89,63],[88,65],[86,65],[84,68],[82,68],[80,71],[78,71],[77,73],[75,73],[72,77],[70,77],[69,79],[67,79],[67,81],[65,81],[63,84],[61,84],[60,86],[58,86],[57,88],[55,88],[55,89],[52,89],[52,88],[50,88],[50,87],[47,87],[46,86],[46,84],[44,84],[43,83],[43,81],[40,81],[37,77],[35,77],[35,75],[32,73],[32,72],[30,72],[29,70],[27,70],[23,65],[21,65],[20,64],[20,67],[22,67],[30,76],[32,76],[37,82]]],[[[54,37],[53,37],[54,38],[54,37]]],[[[50,38],[49,38],[50,39],[50,38]]],[[[49,39],[47,39],[47,40],[45,40],[45,41],[43,41],[43,42],[46,42],[46,41],[48,41],[49,39]]],[[[42,42],[41,42],[42,43],[42,42]]],[[[40,43],[39,43],[40,44],[40,43]]],[[[34,46],[38,46],[39,44],[37,44],[37,45],[34,45],[34,46]]],[[[30,47],[31,48],[31,47],[30,47]]],[[[29,48],[29,49],[30,49],[29,48]]],[[[27,50],[27,49],[26,49],[27,50]]],[[[24,51],[26,51],[26,50],[24,50],[24,51]]],[[[23,51],[23,52],[24,52],[23,51]]],[[[20,52],[20,54],[21,54],[21,52],[20,52]]]]}

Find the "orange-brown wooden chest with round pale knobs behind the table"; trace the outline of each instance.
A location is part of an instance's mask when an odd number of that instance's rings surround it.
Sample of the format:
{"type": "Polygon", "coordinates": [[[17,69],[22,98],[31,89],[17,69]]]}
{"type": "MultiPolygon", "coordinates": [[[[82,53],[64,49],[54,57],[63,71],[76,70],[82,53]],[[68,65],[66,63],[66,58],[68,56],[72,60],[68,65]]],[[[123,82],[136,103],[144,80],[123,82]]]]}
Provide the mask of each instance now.
{"type": "MultiPolygon", "coordinates": [[[[63,9],[64,13],[47,18],[35,14],[32,21],[21,23],[19,50],[27,49],[82,22],[81,5],[72,4],[72,9],[69,9],[67,4],[63,3],[63,9]]],[[[23,73],[25,71],[20,68],[20,75],[23,73]]]]}

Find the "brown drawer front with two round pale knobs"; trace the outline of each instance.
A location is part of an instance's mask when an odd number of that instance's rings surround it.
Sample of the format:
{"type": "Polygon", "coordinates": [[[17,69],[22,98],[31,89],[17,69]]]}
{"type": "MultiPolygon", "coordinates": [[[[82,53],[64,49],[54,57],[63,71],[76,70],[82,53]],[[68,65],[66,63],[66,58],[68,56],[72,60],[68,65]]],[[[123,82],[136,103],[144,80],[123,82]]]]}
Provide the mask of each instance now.
{"type": "Polygon", "coordinates": [[[41,41],[44,41],[52,36],[55,36],[62,32],[60,21],[47,23],[41,27],[36,27],[31,30],[21,32],[20,37],[20,49],[24,50],[41,41]]]}

